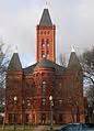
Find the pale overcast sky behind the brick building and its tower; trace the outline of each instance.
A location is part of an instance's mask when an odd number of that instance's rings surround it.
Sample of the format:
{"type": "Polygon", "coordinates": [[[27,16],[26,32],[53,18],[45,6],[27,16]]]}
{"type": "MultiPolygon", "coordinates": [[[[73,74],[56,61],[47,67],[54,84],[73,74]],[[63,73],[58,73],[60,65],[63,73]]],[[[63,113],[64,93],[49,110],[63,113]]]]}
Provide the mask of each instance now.
{"type": "MultiPolygon", "coordinates": [[[[36,25],[45,0],[0,0],[0,37],[20,53],[23,65],[35,62],[36,25]]],[[[94,45],[94,0],[48,0],[52,23],[57,28],[57,59],[68,55],[71,46],[78,54],[94,45]]]]}

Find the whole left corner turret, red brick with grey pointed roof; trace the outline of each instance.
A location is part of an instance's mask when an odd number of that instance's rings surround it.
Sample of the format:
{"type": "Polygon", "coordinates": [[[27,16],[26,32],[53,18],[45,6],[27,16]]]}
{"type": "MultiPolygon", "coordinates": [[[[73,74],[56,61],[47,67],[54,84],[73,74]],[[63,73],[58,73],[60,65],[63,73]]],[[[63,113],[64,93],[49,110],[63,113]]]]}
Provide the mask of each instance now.
{"type": "MultiPolygon", "coordinates": [[[[14,114],[22,112],[22,65],[19,58],[19,54],[14,53],[7,73],[7,84],[5,84],[5,123],[12,123],[14,114]]],[[[17,119],[17,118],[16,118],[17,119]]],[[[17,120],[19,123],[22,120],[17,120]]]]}

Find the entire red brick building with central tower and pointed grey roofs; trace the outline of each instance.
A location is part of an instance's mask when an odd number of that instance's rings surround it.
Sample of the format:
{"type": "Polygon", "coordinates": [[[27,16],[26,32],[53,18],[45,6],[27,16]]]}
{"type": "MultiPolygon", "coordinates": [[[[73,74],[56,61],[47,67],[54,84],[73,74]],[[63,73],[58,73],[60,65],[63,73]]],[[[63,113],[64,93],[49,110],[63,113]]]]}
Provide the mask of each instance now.
{"type": "Polygon", "coordinates": [[[14,53],[7,73],[5,123],[84,122],[83,74],[74,51],[68,67],[56,64],[56,25],[44,9],[36,28],[37,62],[22,68],[14,53]]]}

